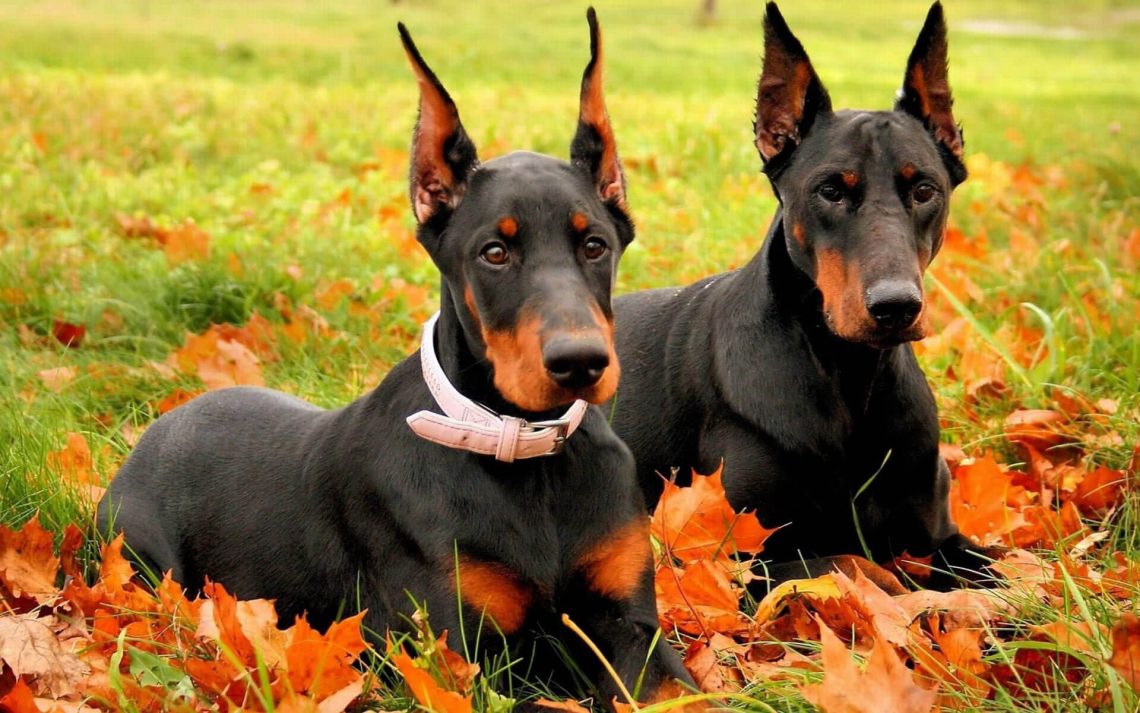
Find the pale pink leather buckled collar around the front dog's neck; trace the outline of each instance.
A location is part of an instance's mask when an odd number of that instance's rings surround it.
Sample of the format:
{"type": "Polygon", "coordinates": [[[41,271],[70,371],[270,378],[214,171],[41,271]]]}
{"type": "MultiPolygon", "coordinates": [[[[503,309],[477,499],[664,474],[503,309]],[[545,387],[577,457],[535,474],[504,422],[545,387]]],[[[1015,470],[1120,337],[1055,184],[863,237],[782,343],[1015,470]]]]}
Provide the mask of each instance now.
{"type": "Polygon", "coordinates": [[[424,323],[420,366],[435,403],[447,415],[432,411],[412,414],[408,416],[408,426],[416,436],[449,448],[494,455],[504,463],[560,453],[565,439],[581,424],[589,404],[578,399],[561,419],[534,423],[497,414],[477,404],[451,386],[443,367],[439,365],[434,343],[438,318],[439,313],[435,313],[424,323]]]}

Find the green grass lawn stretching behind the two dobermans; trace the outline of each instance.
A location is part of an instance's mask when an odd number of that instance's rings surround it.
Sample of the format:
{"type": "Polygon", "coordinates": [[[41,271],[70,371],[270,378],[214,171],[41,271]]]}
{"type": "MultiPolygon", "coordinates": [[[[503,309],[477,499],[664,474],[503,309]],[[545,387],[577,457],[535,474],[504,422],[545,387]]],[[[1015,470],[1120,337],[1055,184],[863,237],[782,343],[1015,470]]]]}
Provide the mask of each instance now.
{"type": "MultiPolygon", "coordinates": [[[[598,5],[638,226],[620,291],[743,264],[774,212],[751,145],[763,3],[719,5],[710,26],[695,24],[695,0],[598,5]]],[[[82,432],[109,478],[129,451],[123,426],[153,420],[176,386],[197,387],[145,366],[187,331],[254,311],[280,322],[278,293],[315,308],[333,335],[282,343],[266,379],[325,406],[363,394],[414,349],[437,273],[407,250],[416,94],[394,25],[408,24],[483,157],[513,148],[564,156],[588,56],[585,6],[510,9],[456,0],[0,5],[0,522],[40,511],[56,530],[90,525],[90,503],[48,454],[82,432]],[[120,214],[168,227],[193,219],[212,236],[210,258],[171,267],[161,249],[123,236],[120,214]],[[351,299],[321,308],[316,295],[342,279],[351,299]],[[56,319],[87,326],[81,348],[50,339],[56,319]],[[36,374],[59,366],[78,375],[56,394],[36,374]]],[[[869,108],[889,106],[925,11],[898,0],[784,7],[833,102],[869,108]]],[[[1012,355],[1021,360],[1009,365],[1011,391],[976,407],[963,405],[956,356],[923,357],[946,438],[1005,448],[1001,418],[1017,404],[1048,405],[1050,386],[1061,384],[1118,402],[1107,423],[1090,424],[1085,448],[1121,468],[1140,436],[1140,254],[1124,249],[1140,226],[1140,5],[953,0],[947,14],[955,112],[971,165],[982,167],[959,191],[954,220],[969,235],[985,230],[991,250],[976,261],[945,258],[939,275],[968,275],[980,299],[947,307],[938,326],[966,315],[971,343],[1012,349],[1002,329],[1023,325],[1049,348],[1036,362],[1012,355]],[[971,30],[982,21],[1027,23],[1029,34],[971,30]],[[1077,37],[1044,37],[1059,30],[1077,37]],[[1042,186],[1037,200],[1003,186],[985,159],[1054,170],[1064,183],[1042,186]],[[1010,250],[1017,230],[1036,248],[1010,250]],[[1118,439],[1100,438],[1113,432],[1118,439]]],[[[1137,504],[1130,495],[1107,522],[1130,556],[1140,549],[1137,504]]],[[[756,694],[777,700],[788,690],[756,694]]],[[[1068,707],[1074,697],[1040,703],[1068,707]]]]}

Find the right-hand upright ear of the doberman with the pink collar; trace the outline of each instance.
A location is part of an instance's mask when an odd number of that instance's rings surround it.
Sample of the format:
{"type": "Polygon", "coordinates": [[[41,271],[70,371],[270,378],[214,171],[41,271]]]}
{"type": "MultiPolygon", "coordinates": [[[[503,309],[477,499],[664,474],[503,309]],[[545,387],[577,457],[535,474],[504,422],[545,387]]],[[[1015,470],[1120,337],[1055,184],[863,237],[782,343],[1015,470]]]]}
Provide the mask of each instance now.
{"type": "Polygon", "coordinates": [[[626,176],[618,159],[613,127],[605,112],[602,92],[602,31],[594,8],[586,10],[589,23],[589,64],[581,75],[578,108],[578,131],[570,143],[570,162],[594,179],[597,194],[605,203],[626,210],[626,176]]]}

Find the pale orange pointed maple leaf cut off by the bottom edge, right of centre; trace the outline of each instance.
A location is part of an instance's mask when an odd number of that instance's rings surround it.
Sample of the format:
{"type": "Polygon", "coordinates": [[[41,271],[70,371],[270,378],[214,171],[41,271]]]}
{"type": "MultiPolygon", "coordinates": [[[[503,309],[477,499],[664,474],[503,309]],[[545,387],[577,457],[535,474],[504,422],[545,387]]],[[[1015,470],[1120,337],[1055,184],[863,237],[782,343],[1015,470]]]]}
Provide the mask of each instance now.
{"type": "Polygon", "coordinates": [[[936,692],[914,682],[910,669],[885,640],[874,640],[864,671],[852,661],[839,637],[822,623],[820,641],[823,682],[799,690],[824,713],[927,713],[934,708],[936,692]]]}

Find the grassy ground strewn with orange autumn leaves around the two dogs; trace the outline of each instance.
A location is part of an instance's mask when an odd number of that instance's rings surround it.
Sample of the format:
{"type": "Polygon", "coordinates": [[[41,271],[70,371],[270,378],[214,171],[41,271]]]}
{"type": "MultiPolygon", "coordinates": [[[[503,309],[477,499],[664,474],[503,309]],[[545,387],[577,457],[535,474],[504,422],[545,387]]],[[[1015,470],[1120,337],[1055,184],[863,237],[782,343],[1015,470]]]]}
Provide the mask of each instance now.
{"type": "MultiPolygon", "coordinates": [[[[620,291],[743,264],[774,212],[750,140],[763,6],[720,5],[700,26],[697,2],[598,7],[638,225],[620,291]]],[[[567,153],[584,7],[510,29],[481,3],[256,7],[0,8],[0,710],[507,710],[544,694],[465,659],[458,632],[423,624],[378,650],[358,618],[284,629],[218,585],[148,588],[93,532],[92,503],[160,414],[241,383],[335,406],[415,348],[437,284],[407,206],[415,88],[396,19],[483,157],[567,153]]],[[[925,10],[785,14],[837,104],[886,107],[925,10]]],[[[763,558],[777,524],[731,512],[718,473],[670,488],[652,520],[662,629],[725,705],[1140,704],[1138,17],[947,10],[971,177],[917,349],[954,517],[1011,548],[1003,578],[937,593],[902,560],[907,594],[837,574],[754,601],[735,551],[763,558]]]]}

